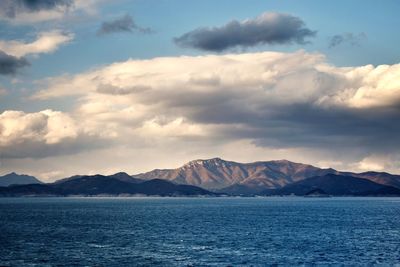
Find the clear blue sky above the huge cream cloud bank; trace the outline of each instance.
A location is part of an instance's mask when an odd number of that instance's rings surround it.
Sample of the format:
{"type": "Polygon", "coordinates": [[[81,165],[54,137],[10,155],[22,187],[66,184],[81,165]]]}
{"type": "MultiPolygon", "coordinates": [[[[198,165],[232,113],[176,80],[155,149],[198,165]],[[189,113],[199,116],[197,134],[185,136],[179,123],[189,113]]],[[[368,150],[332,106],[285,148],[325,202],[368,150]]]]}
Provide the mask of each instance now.
{"type": "MultiPolygon", "coordinates": [[[[127,58],[196,55],[204,52],[177,47],[172,38],[194,28],[218,26],[237,19],[253,18],[263,12],[290,13],[303,19],[307,26],[318,31],[311,44],[261,45],[252,51],[294,51],[305,49],[327,55],[330,62],[340,66],[393,64],[399,61],[400,25],[398,1],[115,1],[99,7],[99,14],[84,22],[56,23],[73,31],[72,44],[44,55],[33,62],[27,72],[32,79],[61,73],[77,73],[96,65],[123,61],[127,58]],[[131,14],[140,24],[154,29],[154,34],[115,34],[96,36],[102,20],[131,14]],[[367,39],[359,46],[342,45],[329,48],[329,38],[342,33],[365,33],[367,39]],[[79,53],[78,53],[79,51],[79,53]],[[81,52],[82,51],[82,52],[81,52]],[[85,56],[82,57],[84,53],[85,56]]],[[[38,26],[1,25],[7,39],[27,39],[47,23],[38,26]]],[[[3,37],[3,38],[4,38],[3,37]]]]}

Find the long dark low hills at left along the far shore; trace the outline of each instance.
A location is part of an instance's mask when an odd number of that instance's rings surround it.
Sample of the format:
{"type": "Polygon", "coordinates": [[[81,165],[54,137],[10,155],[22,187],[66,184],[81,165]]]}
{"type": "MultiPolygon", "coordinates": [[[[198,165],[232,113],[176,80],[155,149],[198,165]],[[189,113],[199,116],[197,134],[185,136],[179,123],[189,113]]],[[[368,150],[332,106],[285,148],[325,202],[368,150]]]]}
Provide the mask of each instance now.
{"type": "Polygon", "coordinates": [[[159,196],[196,196],[216,195],[202,188],[190,185],[177,185],[169,181],[153,179],[139,181],[128,179],[125,175],[74,176],[52,184],[14,185],[0,187],[1,196],[25,195],[159,195],[159,196]]]}

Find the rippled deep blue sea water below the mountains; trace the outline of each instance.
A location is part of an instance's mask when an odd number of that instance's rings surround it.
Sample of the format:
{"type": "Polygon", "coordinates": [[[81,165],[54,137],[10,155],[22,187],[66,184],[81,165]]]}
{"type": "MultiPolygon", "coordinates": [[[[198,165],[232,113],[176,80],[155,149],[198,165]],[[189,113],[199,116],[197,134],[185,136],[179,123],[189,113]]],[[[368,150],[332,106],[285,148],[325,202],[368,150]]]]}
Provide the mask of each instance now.
{"type": "Polygon", "coordinates": [[[0,266],[314,264],[400,264],[400,198],[0,199],[0,266]]]}

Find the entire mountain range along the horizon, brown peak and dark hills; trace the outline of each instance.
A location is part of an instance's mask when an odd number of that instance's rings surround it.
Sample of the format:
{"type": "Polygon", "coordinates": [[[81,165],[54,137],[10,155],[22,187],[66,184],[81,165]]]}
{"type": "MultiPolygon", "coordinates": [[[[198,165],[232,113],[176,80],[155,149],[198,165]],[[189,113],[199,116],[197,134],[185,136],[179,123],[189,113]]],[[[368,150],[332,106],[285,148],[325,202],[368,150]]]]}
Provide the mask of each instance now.
{"type": "Polygon", "coordinates": [[[400,175],[341,172],[287,160],[238,163],[212,158],[136,175],[76,175],[41,184],[32,176],[12,173],[1,181],[7,183],[0,195],[305,195],[315,190],[330,195],[400,195],[400,175]],[[23,183],[29,185],[16,185],[23,183]]]}

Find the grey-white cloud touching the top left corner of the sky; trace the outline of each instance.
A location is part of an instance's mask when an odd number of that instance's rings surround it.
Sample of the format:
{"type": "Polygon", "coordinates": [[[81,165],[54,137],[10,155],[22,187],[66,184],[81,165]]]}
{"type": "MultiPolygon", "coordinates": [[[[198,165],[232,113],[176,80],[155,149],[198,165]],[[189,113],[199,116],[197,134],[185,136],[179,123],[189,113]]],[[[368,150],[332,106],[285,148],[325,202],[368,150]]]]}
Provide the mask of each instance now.
{"type": "Polygon", "coordinates": [[[91,14],[103,0],[2,0],[0,19],[17,24],[60,20],[66,16],[91,14]]]}

